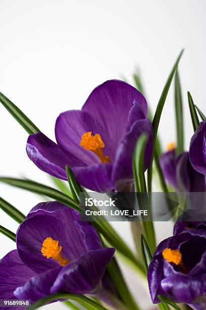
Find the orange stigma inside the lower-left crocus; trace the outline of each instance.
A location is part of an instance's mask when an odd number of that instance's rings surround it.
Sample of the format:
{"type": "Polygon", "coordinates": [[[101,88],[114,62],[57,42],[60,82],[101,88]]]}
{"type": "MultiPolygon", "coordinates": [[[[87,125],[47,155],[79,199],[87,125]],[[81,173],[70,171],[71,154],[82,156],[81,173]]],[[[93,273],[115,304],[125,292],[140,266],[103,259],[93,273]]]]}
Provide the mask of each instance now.
{"type": "Polygon", "coordinates": [[[62,246],[59,245],[58,240],[48,237],[42,243],[41,253],[43,256],[47,259],[52,257],[54,260],[57,260],[61,266],[66,266],[69,260],[63,258],[61,251],[62,246]]]}

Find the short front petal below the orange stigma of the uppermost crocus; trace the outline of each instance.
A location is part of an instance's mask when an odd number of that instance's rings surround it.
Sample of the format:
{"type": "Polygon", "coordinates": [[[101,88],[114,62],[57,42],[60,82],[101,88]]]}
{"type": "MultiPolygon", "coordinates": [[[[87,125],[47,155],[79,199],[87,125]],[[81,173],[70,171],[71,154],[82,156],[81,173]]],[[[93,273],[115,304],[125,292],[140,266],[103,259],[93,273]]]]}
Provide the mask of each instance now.
{"type": "Polygon", "coordinates": [[[112,164],[93,164],[87,167],[73,167],[77,181],[85,188],[107,192],[115,188],[112,181],[112,164]]]}

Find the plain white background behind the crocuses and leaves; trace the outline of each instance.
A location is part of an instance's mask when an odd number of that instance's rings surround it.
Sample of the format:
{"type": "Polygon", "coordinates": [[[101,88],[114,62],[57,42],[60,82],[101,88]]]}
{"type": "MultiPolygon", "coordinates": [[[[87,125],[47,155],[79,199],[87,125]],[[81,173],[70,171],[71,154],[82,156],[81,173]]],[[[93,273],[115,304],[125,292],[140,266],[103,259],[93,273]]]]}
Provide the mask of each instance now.
{"type": "MultiPolygon", "coordinates": [[[[188,90],[206,112],[205,4],[204,0],[0,0],[0,91],[54,139],[60,112],[81,108],[92,89],[106,80],[125,76],[132,83],[135,67],[141,69],[147,100],[155,110],[172,65],[185,48],[179,70],[188,148],[192,135],[188,90]]],[[[164,147],[175,141],[173,97],[171,88],[160,124],[164,147]]],[[[0,134],[0,174],[49,184],[47,175],[27,157],[27,133],[2,106],[0,134]]],[[[3,184],[0,192],[25,214],[41,200],[3,184]]],[[[17,229],[3,211],[0,224],[17,229]]],[[[128,223],[115,225],[133,247],[128,223]]],[[[171,223],[158,223],[157,228],[159,241],[172,232],[171,223]]],[[[0,244],[0,257],[15,247],[2,235],[0,244]]],[[[141,288],[133,272],[125,267],[124,271],[142,308],[151,308],[146,285],[141,288]]],[[[60,307],[65,306],[49,305],[60,307]]]]}

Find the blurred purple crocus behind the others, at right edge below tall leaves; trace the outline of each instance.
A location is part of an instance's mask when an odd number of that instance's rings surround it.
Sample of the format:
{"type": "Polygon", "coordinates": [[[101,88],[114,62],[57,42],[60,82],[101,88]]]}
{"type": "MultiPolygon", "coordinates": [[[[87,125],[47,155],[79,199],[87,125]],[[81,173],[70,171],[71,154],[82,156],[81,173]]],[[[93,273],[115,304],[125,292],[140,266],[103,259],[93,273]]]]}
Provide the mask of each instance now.
{"type": "Polygon", "coordinates": [[[193,169],[188,152],[176,158],[175,149],[171,149],[161,156],[160,165],[165,179],[175,190],[205,191],[205,177],[193,169]]]}

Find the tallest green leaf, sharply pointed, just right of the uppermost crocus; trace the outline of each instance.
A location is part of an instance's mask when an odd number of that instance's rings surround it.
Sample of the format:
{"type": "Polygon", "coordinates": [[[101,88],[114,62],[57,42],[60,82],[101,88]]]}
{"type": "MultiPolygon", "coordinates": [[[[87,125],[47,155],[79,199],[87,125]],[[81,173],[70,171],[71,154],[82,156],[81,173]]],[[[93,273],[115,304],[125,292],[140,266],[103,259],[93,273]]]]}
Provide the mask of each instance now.
{"type": "Polygon", "coordinates": [[[180,55],[178,56],[173,68],[172,68],[172,71],[167,79],[167,82],[165,84],[165,87],[163,89],[163,92],[161,94],[161,97],[160,97],[160,100],[158,102],[158,106],[157,106],[157,109],[156,109],[156,112],[155,112],[155,116],[153,118],[153,122],[152,122],[152,125],[153,125],[153,141],[154,141],[154,146],[153,146],[153,151],[152,151],[152,159],[151,159],[151,162],[150,162],[150,165],[149,165],[149,168],[148,168],[148,171],[147,171],[147,180],[148,180],[148,191],[150,192],[151,191],[151,182],[152,182],[152,162],[153,162],[153,157],[155,155],[155,145],[156,145],[156,138],[157,138],[157,134],[158,134],[158,128],[159,128],[159,124],[160,124],[160,118],[161,118],[161,115],[162,115],[162,111],[163,111],[163,107],[165,105],[165,101],[166,101],[166,98],[167,98],[167,95],[168,95],[168,92],[169,92],[169,89],[170,89],[170,85],[172,83],[172,79],[173,79],[173,76],[175,74],[175,71],[177,69],[177,66],[178,66],[178,63],[179,63],[179,60],[182,56],[182,53],[183,53],[183,50],[181,51],[180,55]]]}

